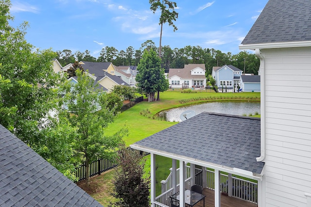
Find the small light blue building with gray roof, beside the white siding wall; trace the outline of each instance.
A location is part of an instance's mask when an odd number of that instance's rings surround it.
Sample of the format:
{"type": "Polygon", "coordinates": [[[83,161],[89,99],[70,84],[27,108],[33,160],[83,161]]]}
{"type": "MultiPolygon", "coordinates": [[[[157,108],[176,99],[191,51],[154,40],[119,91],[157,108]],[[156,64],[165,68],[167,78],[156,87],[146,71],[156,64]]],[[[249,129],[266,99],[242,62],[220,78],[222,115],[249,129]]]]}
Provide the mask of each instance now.
{"type": "Polygon", "coordinates": [[[242,75],[239,80],[239,86],[243,92],[260,92],[260,76],[242,75]]]}

